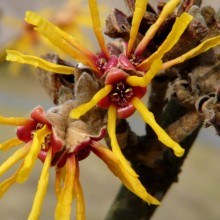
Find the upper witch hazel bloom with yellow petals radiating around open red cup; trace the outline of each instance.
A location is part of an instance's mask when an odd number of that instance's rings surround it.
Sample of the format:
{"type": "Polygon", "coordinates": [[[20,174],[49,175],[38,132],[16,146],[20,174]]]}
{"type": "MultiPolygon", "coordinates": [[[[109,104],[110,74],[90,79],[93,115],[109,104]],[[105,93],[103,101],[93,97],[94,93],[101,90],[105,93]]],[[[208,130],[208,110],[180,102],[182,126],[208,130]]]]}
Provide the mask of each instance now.
{"type": "MultiPolygon", "coordinates": [[[[112,151],[131,175],[137,174],[124,158],[118,145],[116,137],[117,118],[130,117],[134,111],[138,110],[143,120],[155,131],[158,139],[167,147],[172,148],[176,156],[182,156],[184,149],[157,124],[153,113],[147,109],[141,98],[147,92],[147,86],[151,83],[151,80],[160,70],[182,63],[220,43],[220,36],[207,39],[185,54],[163,63],[164,54],[173,48],[192,21],[192,16],[184,12],[176,18],[172,30],[159,48],[153,54],[146,56],[144,52],[149,42],[154,38],[161,24],[177,8],[179,2],[180,0],[170,0],[165,4],[156,22],[147,30],[143,39],[136,46],[138,29],[148,3],[146,0],[137,0],[130,38],[128,42],[124,42],[123,47],[119,47],[114,43],[108,45],[105,43],[101,31],[97,1],[89,0],[93,30],[101,49],[101,52],[97,54],[89,51],[74,37],[67,35],[38,14],[30,11],[26,13],[25,21],[27,23],[35,26],[37,32],[41,33],[75,61],[92,70],[98,80],[102,82],[101,85],[103,86],[93,98],[89,102],[74,108],[70,116],[79,119],[95,106],[108,109],[107,130],[111,139],[112,151]]],[[[17,51],[7,51],[7,53],[7,60],[9,61],[30,64],[55,73],[74,74],[76,68],[79,68],[54,64],[39,57],[24,55],[17,51]]],[[[151,201],[148,202],[151,203],[151,201]]]]}

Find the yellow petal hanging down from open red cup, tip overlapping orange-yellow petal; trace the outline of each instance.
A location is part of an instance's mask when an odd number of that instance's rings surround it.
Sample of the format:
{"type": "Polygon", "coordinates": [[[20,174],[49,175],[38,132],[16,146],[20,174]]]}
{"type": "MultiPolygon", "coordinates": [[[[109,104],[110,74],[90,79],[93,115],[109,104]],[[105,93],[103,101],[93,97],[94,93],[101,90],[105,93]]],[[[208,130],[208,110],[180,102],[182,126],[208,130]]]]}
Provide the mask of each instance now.
{"type": "Polygon", "coordinates": [[[118,145],[118,141],[116,137],[116,107],[114,105],[110,105],[108,109],[107,129],[108,129],[108,134],[111,140],[112,152],[116,155],[116,157],[118,157],[118,159],[121,161],[124,167],[126,167],[127,172],[137,177],[137,174],[131,168],[130,164],[128,163],[124,155],[122,154],[121,148],[118,145]]]}

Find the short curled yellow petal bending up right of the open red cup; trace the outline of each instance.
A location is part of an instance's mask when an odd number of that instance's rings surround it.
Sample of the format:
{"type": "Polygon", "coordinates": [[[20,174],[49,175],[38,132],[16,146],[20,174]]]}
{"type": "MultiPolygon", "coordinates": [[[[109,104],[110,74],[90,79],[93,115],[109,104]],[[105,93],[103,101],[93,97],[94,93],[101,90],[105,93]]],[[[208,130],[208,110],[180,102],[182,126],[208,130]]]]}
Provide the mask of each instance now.
{"type": "Polygon", "coordinates": [[[150,84],[151,80],[156,76],[156,74],[160,71],[162,66],[162,60],[155,60],[152,65],[150,66],[150,69],[147,71],[147,73],[140,77],[140,76],[129,76],[126,79],[126,82],[131,86],[141,86],[146,87],[150,84]]]}

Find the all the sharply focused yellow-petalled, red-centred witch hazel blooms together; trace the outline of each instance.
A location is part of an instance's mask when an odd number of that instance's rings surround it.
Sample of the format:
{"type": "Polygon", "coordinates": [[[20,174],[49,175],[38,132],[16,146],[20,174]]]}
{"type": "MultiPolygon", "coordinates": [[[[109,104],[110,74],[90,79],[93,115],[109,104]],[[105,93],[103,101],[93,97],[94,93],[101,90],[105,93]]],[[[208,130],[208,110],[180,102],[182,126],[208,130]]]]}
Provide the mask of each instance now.
{"type": "MultiPolygon", "coordinates": [[[[80,120],[81,116],[94,108],[107,109],[107,131],[112,148],[112,150],[108,150],[98,142],[104,135],[104,132],[101,131],[98,137],[89,136],[86,141],[71,146],[72,150],[70,151],[69,148],[66,148],[65,141],[60,139],[54,131],[53,123],[47,119],[46,113],[39,107],[32,111],[30,119],[0,117],[1,124],[19,126],[17,137],[1,144],[0,149],[8,150],[25,143],[24,147],[17,150],[0,166],[0,175],[2,175],[12,165],[24,158],[18,171],[0,184],[0,194],[3,195],[13,183],[24,182],[28,178],[37,157],[44,163],[29,219],[38,219],[40,215],[41,204],[47,187],[48,169],[52,165],[56,167],[56,194],[58,198],[55,218],[70,219],[71,203],[73,195],[75,195],[77,201],[76,218],[85,219],[78,162],[86,158],[90,152],[101,158],[130,191],[149,204],[159,204],[156,198],[147,193],[138,179],[138,175],[123,156],[116,137],[116,120],[117,118],[130,117],[135,110],[138,110],[143,120],[152,127],[164,145],[173,149],[174,154],[178,157],[184,154],[184,149],[157,124],[154,115],[141,101],[146,93],[147,86],[160,70],[182,63],[220,44],[220,36],[216,36],[207,39],[180,57],[163,63],[164,54],[173,48],[192,21],[192,16],[184,12],[176,18],[172,30],[158,50],[149,57],[144,56],[144,50],[148,43],[153,39],[165,19],[176,9],[179,2],[180,0],[170,0],[165,4],[156,22],[134,48],[139,26],[148,3],[147,0],[136,0],[129,41],[124,43],[125,49],[117,52],[117,54],[105,43],[96,0],[88,0],[88,3],[93,30],[101,49],[101,52],[97,54],[83,47],[74,37],[67,35],[38,14],[31,11],[26,13],[25,21],[33,25],[38,33],[74,60],[87,66],[99,80],[102,80],[103,86],[100,90],[89,102],[71,109],[69,118],[70,120],[80,120]],[[62,181],[64,181],[63,187],[61,187],[62,181]]],[[[71,75],[77,68],[80,68],[54,64],[42,58],[24,55],[12,50],[8,50],[7,54],[8,61],[30,64],[59,74],[71,75]]]]}

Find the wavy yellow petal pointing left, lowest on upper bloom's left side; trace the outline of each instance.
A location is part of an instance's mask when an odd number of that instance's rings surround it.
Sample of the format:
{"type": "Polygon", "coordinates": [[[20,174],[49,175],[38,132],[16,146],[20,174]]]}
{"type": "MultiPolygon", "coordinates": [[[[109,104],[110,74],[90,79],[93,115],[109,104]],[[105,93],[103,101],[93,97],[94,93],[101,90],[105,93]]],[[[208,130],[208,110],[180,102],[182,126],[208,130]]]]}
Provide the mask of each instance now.
{"type": "Polygon", "coordinates": [[[24,55],[14,50],[7,50],[6,60],[30,64],[32,66],[39,67],[41,69],[44,69],[49,72],[54,72],[54,73],[60,73],[60,74],[73,74],[74,73],[73,67],[51,63],[40,57],[24,55]]]}

